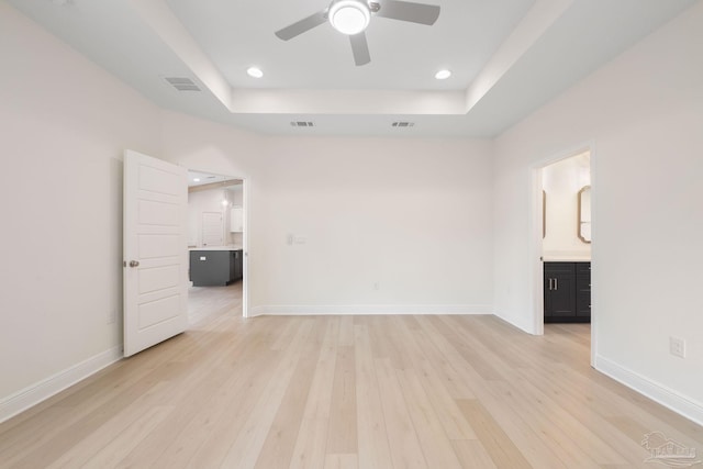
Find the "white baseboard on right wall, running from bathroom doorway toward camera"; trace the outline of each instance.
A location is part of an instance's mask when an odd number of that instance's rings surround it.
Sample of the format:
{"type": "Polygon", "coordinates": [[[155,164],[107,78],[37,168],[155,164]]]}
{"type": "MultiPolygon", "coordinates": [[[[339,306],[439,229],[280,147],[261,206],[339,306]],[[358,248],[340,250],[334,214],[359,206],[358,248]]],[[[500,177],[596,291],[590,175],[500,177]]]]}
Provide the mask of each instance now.
{"type": "Polygon", "coordinates": [[[602,356],[595,357],[595,369],[613,378],[626,387],[634,389],[643,395],[660,403],[665,407],[703,425],[703,404],[695,402],[679,392],[667,388],[663,384],[651,381],[650,379],[621,367],[614,361],[602,356]]]}

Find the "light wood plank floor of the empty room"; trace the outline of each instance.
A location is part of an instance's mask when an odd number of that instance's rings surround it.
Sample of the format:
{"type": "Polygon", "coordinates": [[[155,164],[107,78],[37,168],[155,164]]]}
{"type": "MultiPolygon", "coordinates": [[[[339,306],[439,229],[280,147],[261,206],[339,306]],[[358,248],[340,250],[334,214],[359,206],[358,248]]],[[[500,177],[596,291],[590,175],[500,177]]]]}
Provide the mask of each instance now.
{"type": "Polygon", "coordinates": [[[588,325],[243,320],[236,288],[201,292],[187,333],[0,425],[0,467],[663,467],[655,431],[703,453],[703,428],[590,368],[588,325]]]}

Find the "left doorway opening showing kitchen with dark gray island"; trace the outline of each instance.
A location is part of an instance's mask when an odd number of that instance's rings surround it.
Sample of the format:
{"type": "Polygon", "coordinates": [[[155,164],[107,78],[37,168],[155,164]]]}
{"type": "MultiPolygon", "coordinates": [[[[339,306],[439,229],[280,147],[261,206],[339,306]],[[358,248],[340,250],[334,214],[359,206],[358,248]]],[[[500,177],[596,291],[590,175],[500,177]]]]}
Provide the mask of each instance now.
{"type": "Polygon", "coordinates": [[[246,188],[244,178],[188,171],[189,326],[246,316],[246,188]]]}

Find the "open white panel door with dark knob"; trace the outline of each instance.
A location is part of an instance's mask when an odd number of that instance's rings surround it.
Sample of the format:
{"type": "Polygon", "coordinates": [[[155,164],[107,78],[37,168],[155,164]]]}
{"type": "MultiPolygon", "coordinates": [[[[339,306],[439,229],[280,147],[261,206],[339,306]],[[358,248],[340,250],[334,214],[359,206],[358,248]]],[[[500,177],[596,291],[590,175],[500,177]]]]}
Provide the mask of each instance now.
{"type": "Polygon", "coordinates": [[[124,152],[124,356],[188,325],[185,168],[124,152]]]}

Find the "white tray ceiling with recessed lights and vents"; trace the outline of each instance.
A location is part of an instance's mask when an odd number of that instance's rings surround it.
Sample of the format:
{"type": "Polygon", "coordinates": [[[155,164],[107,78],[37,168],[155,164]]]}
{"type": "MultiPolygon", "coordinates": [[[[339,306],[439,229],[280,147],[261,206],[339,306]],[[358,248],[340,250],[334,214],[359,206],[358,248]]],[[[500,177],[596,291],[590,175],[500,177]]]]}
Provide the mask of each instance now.
{"type": "Polygon", "coordinates": [[[327,23],[274,35],[328,0],[7,1],[165,109],[264,134],[429,137],[501,134],[694,3],[426,0],[433,26],[371,18],[356,67],[327,23]]]}

